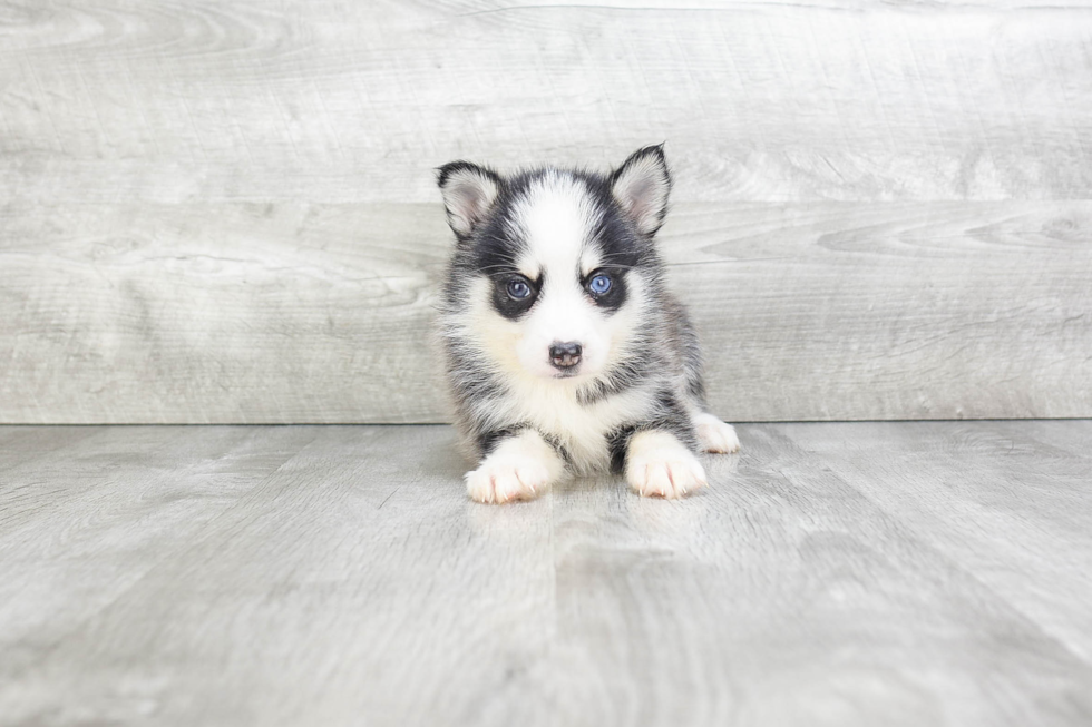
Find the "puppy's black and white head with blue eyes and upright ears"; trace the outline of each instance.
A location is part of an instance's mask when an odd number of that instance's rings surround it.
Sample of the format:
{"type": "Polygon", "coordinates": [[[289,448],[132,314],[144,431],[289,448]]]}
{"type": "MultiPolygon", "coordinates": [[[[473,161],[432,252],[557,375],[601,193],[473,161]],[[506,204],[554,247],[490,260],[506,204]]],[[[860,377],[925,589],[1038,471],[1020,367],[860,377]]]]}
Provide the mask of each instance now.
{"type": "Polygon", "coordinates": [[[662,146],[610,176],[545,168],[503,177],[454,161],[439,186],[458,240],[460,327],[491,363],[584,381],[633,353],[660,272],[652,237],[671,187],[662,146]]]}

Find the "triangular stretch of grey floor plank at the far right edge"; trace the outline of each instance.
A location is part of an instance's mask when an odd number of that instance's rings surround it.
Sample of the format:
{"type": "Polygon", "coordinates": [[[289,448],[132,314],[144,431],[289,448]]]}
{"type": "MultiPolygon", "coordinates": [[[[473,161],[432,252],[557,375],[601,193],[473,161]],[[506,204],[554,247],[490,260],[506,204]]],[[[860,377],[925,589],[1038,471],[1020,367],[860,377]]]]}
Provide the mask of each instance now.
{"type": "Polygon", "coordinates": [[[1092,612],[1069,597],[1078,596],[1073,584],[1088,580],[1092,564],[1092,542],[1083,539],[1092,514],[1086,508],[1092,468],[1086,444],[1072,452],[1064,442],[1092,432],[1061,422],[1022,424],[923,423],[898,436],[867,425],[847,428],[848,434],[799,425],[787,431],[885,512],[978,573],[983,584],[1089,661],[1092,612]],[[875,458],[877,449],[891,459],[875,458]],[[1011,507],[1014,498],[1021,500],[1018,508],[1011,507]]]}

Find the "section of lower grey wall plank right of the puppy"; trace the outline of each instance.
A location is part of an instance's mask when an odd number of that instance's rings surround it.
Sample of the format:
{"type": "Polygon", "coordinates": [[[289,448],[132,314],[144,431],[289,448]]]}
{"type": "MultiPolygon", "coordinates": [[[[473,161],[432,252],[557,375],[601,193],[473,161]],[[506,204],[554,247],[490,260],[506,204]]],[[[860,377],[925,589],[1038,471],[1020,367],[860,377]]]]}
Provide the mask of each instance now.
{"type": "Polygon", "coordinates": [[[1092,205],[721,205],[665,240],[738,420],[1092,412],[1092,205]]]}

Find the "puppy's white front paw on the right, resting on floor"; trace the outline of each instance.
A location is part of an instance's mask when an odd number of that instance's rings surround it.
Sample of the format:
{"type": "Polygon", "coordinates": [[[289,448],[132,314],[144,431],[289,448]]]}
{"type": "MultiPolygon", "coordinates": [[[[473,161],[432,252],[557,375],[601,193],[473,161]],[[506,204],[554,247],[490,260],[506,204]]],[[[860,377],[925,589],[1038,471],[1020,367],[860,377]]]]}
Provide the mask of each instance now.
{"type": "Polygon", "coordinates": [[[667,499],[709,484],[698,458],[674,434],[662,430],[640,431],[630,438],[625,479],[645,497],[667,499]]]}

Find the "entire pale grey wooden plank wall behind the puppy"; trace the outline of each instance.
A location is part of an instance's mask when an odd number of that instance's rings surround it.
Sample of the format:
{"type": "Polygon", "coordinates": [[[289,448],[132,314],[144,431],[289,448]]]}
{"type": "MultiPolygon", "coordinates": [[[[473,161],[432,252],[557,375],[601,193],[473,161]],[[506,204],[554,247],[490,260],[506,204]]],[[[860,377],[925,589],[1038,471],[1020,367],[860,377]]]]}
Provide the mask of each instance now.
{"type": "Polygon", "coordinates": [[[1092,416],[1092,6],[0,0],[0,422],[445,421],[432,168],[666,140],[732,420],[1092,416]]]}

